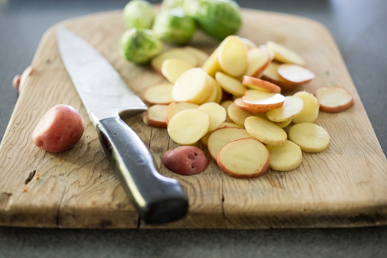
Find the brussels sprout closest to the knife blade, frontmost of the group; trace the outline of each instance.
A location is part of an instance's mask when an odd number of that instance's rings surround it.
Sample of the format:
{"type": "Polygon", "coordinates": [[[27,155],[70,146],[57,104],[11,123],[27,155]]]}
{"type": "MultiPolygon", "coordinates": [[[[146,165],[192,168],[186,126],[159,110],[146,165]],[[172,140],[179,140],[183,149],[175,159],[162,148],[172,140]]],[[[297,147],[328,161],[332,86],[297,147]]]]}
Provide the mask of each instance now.
{"type": "Polygon", "coordinates": [[[135,64],[147,64],[163,49],[162,41],[150,29],[131,28],[120,38],[121,55],[135,64]]]}

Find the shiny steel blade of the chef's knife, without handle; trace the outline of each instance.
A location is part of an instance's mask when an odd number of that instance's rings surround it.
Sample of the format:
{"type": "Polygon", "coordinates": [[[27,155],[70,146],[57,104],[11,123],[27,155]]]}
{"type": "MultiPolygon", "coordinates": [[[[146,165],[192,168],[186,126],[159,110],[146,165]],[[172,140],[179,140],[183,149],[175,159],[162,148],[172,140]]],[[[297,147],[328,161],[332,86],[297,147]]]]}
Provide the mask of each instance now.
{"type": "Polygon", "coordinates": [[[117,70],[93,46],[73,32],[57,29],[63,63],[94,126],[98,121],[136,115],[147,106],[130,90],[117,70]]]}

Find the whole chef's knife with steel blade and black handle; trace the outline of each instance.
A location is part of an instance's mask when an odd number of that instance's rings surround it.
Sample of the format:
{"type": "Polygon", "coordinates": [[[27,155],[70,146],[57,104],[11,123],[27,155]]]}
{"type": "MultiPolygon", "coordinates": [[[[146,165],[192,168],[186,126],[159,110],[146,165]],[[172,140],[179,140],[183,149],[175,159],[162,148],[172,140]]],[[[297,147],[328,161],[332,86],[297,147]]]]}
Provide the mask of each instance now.
{"type": "Polygon", "coordinates": [[[159,224],[184,217],[188,199],[179,182],[158,173],[145,143],[123,121],[146,111],[147,106],[88,42],[59,27],[57,43],[105,154],[140,218],[159,224]]]}

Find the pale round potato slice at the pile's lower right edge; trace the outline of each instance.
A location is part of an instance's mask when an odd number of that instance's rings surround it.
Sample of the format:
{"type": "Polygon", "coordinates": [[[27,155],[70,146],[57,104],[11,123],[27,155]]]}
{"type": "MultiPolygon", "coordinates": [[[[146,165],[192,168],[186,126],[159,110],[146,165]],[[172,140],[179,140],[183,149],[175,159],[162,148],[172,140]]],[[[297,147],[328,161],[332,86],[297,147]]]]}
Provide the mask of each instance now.
{"type": "Polygon", "coordinates": [[[329,145],[329,134],[314,123],[300,123],[289,129],[289,140],[300,146],[305,152],[320,152],[329,145]]]}

